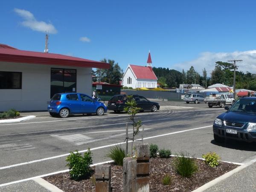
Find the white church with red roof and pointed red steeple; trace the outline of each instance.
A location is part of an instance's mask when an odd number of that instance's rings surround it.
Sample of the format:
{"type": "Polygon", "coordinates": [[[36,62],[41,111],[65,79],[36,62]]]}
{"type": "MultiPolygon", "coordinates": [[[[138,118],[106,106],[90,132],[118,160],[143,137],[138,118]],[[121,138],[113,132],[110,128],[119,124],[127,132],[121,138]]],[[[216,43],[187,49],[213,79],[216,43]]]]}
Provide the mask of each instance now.
{"type": "Polygon", "coordinates": [[[156,88],[157,76],[152,70],[152,60],[150,52],[148,53],[147,67],[128,64],[122,78],[122,85],[135,88],[156,88]]]}

